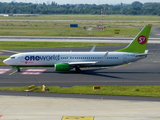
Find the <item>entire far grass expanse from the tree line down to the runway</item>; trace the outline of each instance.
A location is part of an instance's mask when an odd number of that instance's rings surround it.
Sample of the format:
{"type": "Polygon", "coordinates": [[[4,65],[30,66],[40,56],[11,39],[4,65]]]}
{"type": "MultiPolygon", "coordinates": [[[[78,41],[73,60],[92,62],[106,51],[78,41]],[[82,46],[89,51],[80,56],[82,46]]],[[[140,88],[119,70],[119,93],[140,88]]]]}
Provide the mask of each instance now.
{"type": "Polygon", "coordinates": [[[129,15],[106,15],[104,31],[97,29],[101,24],[100,15],[38,15],[0,17],[0,20],[1,36],[133,37],[139,32],[136,26],[160,25],[160,16],[129,15]],[[70,24],[78,24],[79,27],[70,28],[70,24]],[[93,29],[88,31],[89,27],[93,29]],[[119,34],[115,34],[116,29],[120,30],[119,34]]]}

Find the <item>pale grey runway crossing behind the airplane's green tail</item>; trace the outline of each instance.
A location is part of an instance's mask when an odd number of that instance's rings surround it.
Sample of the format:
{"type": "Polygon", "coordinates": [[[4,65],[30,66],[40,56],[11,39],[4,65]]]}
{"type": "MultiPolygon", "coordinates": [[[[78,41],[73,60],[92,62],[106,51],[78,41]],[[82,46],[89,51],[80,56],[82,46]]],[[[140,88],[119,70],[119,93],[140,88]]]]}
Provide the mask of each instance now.
{"type": "MultiPolygon", "coordinates": [[[[156,35],[159,37],[159,35],[156,35]]],[[[159,43],[160,38],[150,38],[149,43],[159,43]]],[[[91,42],[91,43],[130,43],[133,38],[110,38],[110,37],[15,37],[3,36],[0,41],[27,41],[27,42],[91,42]]]]}

